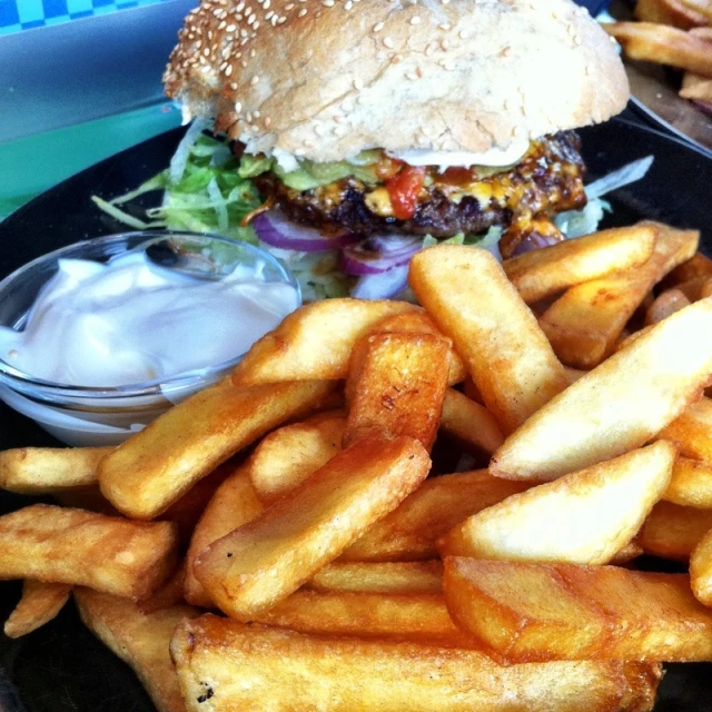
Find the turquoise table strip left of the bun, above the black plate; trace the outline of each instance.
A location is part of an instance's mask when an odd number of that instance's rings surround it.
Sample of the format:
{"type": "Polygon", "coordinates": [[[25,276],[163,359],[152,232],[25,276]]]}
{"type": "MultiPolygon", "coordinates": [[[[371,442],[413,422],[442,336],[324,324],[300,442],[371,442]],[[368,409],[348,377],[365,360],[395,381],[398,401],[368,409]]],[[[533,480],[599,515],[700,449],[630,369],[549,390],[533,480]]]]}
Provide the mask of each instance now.
{"type": "Polygon", "coordinates": [[[180,126],[161,102],[126,113],[0,144],[0,219],[89,166],[180,126]]]}

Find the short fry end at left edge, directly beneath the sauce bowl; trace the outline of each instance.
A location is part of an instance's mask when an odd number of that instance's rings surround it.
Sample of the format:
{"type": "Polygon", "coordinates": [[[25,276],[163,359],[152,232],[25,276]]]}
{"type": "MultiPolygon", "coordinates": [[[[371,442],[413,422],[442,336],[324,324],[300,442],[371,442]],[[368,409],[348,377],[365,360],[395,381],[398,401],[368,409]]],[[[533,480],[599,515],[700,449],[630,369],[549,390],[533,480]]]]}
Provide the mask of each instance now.
{"type": "Polygon", "coordinates": [[[97,465],[112,447],[21,447],[0,453],[0,487],[53,494],[96,484],[97,465]]]}

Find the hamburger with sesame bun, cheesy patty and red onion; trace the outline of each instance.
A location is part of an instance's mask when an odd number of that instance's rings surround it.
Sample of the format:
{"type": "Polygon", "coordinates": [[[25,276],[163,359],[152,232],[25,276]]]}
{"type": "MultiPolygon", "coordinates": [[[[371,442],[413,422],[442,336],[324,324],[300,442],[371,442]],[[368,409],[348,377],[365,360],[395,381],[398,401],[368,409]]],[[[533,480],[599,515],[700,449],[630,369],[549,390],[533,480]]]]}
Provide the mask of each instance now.
{"type": "Polygon", "coordinates": [[[338,254],[374,277],[357,296],[393,296],[435,240],[562,239],[552,218],[586,204],[574,129],[629,97],[570,0],[204,0],[164,79],[257,188],[245,224],[314,274],[338,254]]]}

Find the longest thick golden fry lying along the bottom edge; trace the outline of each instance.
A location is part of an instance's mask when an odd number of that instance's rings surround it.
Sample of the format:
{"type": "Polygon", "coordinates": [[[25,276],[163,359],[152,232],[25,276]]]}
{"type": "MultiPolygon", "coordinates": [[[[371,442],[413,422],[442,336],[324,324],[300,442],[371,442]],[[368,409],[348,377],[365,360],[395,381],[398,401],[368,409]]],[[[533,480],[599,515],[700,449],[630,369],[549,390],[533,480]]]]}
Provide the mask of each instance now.
{"type": "Polygon", "coordinates": [[[312,636],[214,615],[181,623],[171,652],[194,712],[643,712],[661,678],[656,665],[619,662],[501,668],[478,651],[312,636]]]}

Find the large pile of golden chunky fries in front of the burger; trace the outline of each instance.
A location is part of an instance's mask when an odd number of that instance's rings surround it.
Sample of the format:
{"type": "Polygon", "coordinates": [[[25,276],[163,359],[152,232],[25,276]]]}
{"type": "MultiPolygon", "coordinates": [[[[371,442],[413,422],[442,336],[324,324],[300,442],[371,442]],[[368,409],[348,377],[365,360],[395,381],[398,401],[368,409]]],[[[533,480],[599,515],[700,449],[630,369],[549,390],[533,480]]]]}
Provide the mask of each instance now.
{"type": "Polygon", "coordinates": [[[712,661],[698,243],[433,247],[422,306],[310,304],[117,448],[1,453],[59,502],[0,517],[6,634],[73,595],[161,712],[651,710],[712,661]]]}

